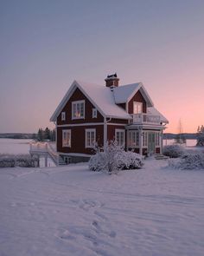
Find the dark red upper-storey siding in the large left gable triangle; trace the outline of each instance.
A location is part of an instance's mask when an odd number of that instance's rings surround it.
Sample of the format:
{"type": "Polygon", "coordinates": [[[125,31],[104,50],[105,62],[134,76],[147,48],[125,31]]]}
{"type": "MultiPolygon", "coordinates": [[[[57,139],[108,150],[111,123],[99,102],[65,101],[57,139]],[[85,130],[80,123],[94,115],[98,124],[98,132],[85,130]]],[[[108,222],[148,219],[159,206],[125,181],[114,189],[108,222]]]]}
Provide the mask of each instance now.
{"type": "Polygon", "coordinates": [[[68,100],[65,107],[61,112],[66,112],[66,120],[61,121],[61,114],[57,117],[57,124],[71,124],[71,123],[84,123],[84,122],[103,122],[104,117],[97,111],[97,118],[92,118],[92,108],[95,108],[92,103],[86,98],[86,96],[80,91],[75,89],[73,95],[68,100]],[[85,100],[85,119],[74,119],[72,120],[72,102],[85,100]]]}

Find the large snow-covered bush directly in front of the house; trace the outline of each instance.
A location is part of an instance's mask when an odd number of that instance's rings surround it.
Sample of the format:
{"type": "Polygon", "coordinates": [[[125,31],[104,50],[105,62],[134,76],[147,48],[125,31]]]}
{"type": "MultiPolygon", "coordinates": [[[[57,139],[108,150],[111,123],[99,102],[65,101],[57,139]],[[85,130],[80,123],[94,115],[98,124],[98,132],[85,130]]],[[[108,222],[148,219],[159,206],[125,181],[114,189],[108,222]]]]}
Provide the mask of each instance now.
{"type": "Polygon", "coordinates": [[[92,155],[89,161],[89,169],[92,171],[105,171],[109,174],[117,173],[123,169],[137,169],[143,167],[143,161],[139,154],[131,151],[125,152],[116,141],[108,142],[103,151],[99,150],[92,155]]]}

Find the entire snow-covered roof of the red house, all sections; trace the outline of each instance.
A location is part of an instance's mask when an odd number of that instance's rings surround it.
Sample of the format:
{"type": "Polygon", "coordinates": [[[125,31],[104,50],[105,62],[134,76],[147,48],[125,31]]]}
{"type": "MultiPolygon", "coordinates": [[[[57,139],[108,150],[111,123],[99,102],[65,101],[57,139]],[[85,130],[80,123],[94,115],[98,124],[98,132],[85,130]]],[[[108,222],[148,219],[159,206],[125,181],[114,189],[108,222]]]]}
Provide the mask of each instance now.
{"type": "Polygon", "coordinates": [[[140,90],[147,102],[147,112],[152,115],[160,115],[161,121],[164,123],[169,122],[156,108],[153,107],[150,95],[148,95],[147,91],[144,89],[142,82],[127,84],[110,89],[104,85],[81,81],[73,81],[71,87],[67,90],[67,94],[63,97],[61,103],[51,116],[50,121],[56,121],[57,116],[61,113],[61,110],[77,88],[86,95],[86,98],[92,102],[92,105],[95,106],[95,108],[98,108],[101,115],[126,120],[131,119],[131,115],[117,104],[129,102],[133,95],[140,90]]]}

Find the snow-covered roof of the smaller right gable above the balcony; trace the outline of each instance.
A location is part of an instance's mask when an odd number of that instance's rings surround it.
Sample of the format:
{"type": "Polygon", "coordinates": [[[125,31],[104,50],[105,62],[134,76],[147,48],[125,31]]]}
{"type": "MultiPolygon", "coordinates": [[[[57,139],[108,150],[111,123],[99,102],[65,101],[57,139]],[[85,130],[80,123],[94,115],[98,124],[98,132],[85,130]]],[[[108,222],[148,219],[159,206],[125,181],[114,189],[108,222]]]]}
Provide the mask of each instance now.
{"type": "Polygon", "coordinates": [[[143,98],[147,102],[147,106],[153,107],[154,104],[150,99],[150,95],[148,94],[146,89],[144,89],[142,82],[131,83],[115,87],[113,89],[115,102],[117,104],[129,102],[131,98],[137,93],[138,90],[140,90],[141,94],[143,95],[143,98]]]}

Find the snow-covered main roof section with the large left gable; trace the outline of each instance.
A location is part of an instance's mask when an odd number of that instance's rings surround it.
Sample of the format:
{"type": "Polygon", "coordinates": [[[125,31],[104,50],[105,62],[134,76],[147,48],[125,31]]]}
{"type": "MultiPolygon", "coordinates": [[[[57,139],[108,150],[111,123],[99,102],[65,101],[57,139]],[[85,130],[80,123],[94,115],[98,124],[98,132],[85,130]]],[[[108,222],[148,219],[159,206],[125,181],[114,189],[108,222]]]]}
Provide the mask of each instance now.
{"type": "Polygon", "coordinates": [[[102,115],[112,118],[131,119],[131,115],[126,113],[123,108],[120,108],[115,104],[114,93],[110,88],[94,83],[74,81],[71,87],[68,89],[67,94],[54,111],[50,121],[56,121],[57,116],[61,113],[62,108],[64,108],[65,104],[76,88],[79,88],[82,93],[86,95],[87,99],[92,102],[96,108],[98,108],[102,115]]]}

